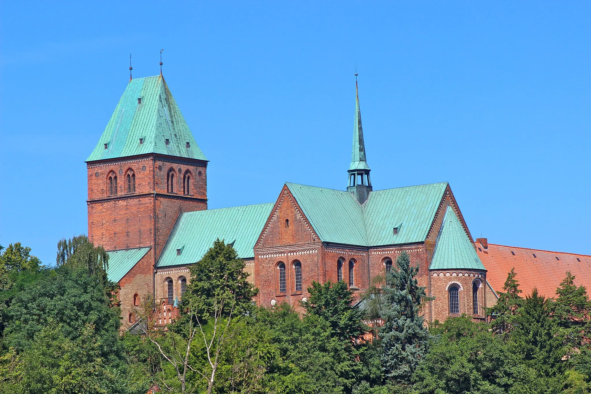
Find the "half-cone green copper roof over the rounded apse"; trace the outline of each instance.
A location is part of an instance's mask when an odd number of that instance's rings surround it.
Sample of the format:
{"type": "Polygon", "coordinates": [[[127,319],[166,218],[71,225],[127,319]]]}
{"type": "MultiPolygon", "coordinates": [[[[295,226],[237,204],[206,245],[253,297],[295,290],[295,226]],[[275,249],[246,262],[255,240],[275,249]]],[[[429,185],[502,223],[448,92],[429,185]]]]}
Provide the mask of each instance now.
{"type": "Polygon", "coordinates": [[[429,269],[482,269],[482,262],[451,207],[447,207],[437,235],[435,253],[429,269]]]}

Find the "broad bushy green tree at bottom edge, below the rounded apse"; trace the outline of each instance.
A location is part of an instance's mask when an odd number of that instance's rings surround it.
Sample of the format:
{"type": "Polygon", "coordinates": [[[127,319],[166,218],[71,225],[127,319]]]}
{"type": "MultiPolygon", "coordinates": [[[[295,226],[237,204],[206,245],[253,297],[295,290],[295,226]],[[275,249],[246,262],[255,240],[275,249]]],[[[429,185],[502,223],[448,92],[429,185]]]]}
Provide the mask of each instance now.
{"type": "Polygon", "coordinates": [[[413,375],[420,394],[557,393],[560,382],[521,363],[511,341],[466,315],[431,328],[430,349],[413,375]]]}

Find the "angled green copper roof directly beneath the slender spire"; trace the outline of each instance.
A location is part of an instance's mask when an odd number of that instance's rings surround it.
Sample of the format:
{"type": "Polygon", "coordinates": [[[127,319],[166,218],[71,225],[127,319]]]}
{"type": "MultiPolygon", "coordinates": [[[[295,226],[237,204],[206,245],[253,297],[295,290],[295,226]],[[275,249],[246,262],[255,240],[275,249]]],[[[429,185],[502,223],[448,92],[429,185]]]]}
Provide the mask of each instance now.
{"type": "Polygon", "coordinates": [[[286,185],[320,240],[360,246],[423,242],[447,187],[444,182],[371,191],[361,206],[347,191],[286,185]]]}

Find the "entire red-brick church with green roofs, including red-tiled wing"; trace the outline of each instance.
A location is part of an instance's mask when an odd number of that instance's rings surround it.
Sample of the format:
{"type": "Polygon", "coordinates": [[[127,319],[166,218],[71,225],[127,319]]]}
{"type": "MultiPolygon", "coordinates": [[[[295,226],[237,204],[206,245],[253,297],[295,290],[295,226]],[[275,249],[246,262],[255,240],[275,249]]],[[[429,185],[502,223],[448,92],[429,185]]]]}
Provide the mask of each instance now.
{"type": "Polygon", "coordinates": [[[407,252],[431,297],[427,323],[486,319],[507,273],[524,294],[553,297],[567,271],[591,284],[591,256],[473,240],[447,182],[374,190],[356,82],[348,184],[343,190],[285,183],[273,202],[207,209],[207,158],[162,74],[129,80],[86,160],[88,235],[109,252],[124,328],[154,299],[168,324],[189,267],[217,238],[233,245],[265,307],[300,310],[312,281],[345,281],[356,299],[407,252]]]}

